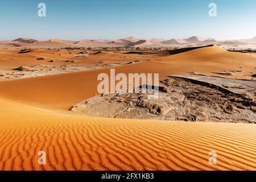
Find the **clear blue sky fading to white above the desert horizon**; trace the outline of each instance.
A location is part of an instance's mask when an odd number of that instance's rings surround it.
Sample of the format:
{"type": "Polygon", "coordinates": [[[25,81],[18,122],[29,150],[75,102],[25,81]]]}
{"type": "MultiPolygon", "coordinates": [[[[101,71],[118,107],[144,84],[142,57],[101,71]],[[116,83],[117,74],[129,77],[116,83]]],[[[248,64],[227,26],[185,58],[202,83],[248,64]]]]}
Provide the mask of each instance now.
{"type": "Polygon", "coordinates": [[[255,0],[0,1],[0,40],[138,38],[233,39],[256,36],[255,0]],[[38,3],[47,16],[39,18],[38,3]],[[217,17],[208,5],[217,4],[217,17]]]}

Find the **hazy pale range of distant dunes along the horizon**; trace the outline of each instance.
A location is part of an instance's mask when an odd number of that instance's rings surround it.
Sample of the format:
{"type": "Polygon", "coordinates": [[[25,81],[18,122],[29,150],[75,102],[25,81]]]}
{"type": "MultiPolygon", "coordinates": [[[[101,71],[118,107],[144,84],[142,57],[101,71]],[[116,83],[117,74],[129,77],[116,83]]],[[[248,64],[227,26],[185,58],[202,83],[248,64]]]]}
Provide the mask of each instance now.
{"type": "Polygon", "coordinates": [[[12,41],[0,42],[0,47],[9,45],[10,47],[52,47],[59,44],[59,47],[191,47],[191,46],[207,46],[208,44],[216,44],[226,49],[229,48],[254,48],[256,49],[256,38],[241,40],[216,40],[212,38],[201,38],[200,36],[192,36],[187,39],[138,39],[133,36],[115,40],[105,39],[83,39],[79,41],[51,39],[49,41],[37,41],[28,38],[19,38],[12,41]],[[146,41],[146,42],[144,42],[146,41]],[[31,44],[34,43],[34,44],[31,44]]]}

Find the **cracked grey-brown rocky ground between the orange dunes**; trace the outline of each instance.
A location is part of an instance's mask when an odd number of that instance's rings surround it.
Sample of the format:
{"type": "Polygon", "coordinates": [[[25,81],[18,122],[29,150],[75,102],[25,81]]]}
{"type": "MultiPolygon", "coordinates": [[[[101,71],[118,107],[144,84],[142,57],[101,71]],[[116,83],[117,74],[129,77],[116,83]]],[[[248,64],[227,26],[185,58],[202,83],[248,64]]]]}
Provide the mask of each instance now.
{"type": "Polygon", "coordinates": [[[172,76],[160,81],[158,99],[149,100],[148,93],[106,93],[71,111],[110,118],[256,123],[255,95],[255,81],[172,76]]]}

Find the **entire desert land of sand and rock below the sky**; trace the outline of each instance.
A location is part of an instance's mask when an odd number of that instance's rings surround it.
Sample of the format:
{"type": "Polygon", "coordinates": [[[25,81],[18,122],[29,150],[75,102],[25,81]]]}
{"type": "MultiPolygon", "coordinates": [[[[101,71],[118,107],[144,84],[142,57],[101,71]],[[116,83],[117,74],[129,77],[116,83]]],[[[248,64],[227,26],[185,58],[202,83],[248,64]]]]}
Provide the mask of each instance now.
{"type": "Polygon", "coordinates": [[[0,42],[0,170],[256,170],[254,39],[0,42]],[[98,93],[112,68],[158,100],[98,93]]]}

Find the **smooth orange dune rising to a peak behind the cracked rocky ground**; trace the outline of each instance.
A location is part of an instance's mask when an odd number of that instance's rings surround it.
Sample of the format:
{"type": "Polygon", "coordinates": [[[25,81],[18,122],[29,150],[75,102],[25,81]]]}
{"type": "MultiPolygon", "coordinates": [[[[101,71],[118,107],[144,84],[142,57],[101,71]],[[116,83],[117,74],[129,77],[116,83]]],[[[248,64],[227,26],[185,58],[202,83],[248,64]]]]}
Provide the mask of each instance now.
{"type": "MultiPolygon", "coordinates": [[[[122,65],[115,67],[115,72],[159,73],[160,79],[168,75],[188,74],[188,72],[214,75],[211,72],[238,69],[245,74],[251,74],[255,72],[255,63],[256,57],[228,52],[213,46],[176,55],[155,57],[155,59],[142,63],[122,65]]],[[[67,110],[77,102],[97,94],[99,83],[97,76],[100,73],[110,73],[110,68],[1,81],[0,96],[34,105],[67,110]]],[[[229,78],[234,77],[245,78],[244,75],[229,76],[229,78]]]]}

